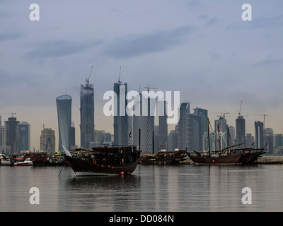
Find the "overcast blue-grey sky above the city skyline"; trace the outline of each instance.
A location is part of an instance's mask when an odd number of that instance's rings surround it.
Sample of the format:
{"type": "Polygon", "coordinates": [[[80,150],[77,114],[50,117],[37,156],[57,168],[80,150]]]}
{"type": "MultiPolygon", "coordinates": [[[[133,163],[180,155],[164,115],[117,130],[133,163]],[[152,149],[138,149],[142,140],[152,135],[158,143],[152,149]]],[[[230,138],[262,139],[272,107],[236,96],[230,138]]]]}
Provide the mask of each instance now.
{"type": "Polygon", "coordinates": [[[210,121],[225,112],[232,126],[241,108],[246,133],[267,114],[265,126],[283,133],[282,8],[281,0],[0,0],[2,124],[14,112],[31,125],[31,148],[40,150],[43,125],[58,147],[56,97],[71,95],[79,145],[80,86],[93,65],[95,129],[113,133],[103,95],[121,66],[128,90],[180,91],[190,112],[207,109],[210,121]],[[246,3],[252,20],[242,19],[246,3]],[[40,20],[30,20],[30,4],[40,20]]]}

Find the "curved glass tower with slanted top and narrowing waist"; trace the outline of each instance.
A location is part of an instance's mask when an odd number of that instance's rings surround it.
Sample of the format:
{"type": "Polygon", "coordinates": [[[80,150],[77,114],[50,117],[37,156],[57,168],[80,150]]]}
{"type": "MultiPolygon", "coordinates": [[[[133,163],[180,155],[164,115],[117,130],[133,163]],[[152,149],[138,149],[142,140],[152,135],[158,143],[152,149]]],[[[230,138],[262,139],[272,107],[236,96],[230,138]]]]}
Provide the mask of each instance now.
{"type": "Polygon", "coordinates": [[[61,95],[56,98],[58,130],[59,130],[59,147],[62,151],[62,145],[65,148],[71,148],[71,96],[61,95]]]}

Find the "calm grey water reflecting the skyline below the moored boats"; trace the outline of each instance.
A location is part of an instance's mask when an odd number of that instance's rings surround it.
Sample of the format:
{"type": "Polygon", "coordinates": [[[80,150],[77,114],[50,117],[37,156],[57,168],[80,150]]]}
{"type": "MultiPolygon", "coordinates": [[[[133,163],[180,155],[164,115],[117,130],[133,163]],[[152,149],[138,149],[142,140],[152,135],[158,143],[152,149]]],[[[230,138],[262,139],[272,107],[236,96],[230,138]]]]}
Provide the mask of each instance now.
{"type": "Polygon", "coordinates": [[[61,169],[1,166],[0,211],[283,211],[283,165],[138,165],[124,177],[75,177],[70,167],[58,177],[61,169]],[[31,187],[40,204],[30,204],[31,187]]]}

